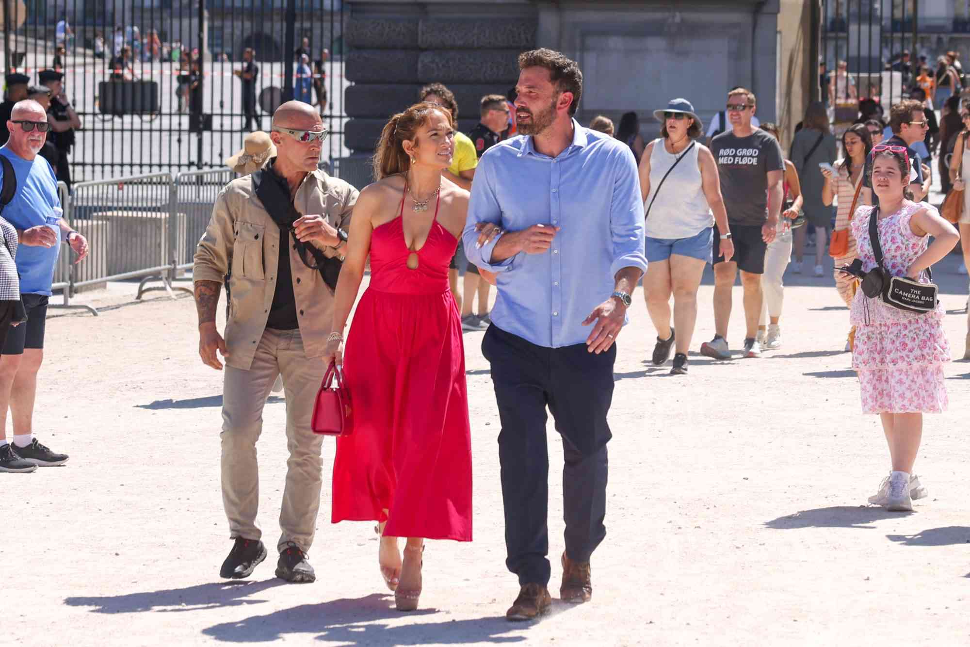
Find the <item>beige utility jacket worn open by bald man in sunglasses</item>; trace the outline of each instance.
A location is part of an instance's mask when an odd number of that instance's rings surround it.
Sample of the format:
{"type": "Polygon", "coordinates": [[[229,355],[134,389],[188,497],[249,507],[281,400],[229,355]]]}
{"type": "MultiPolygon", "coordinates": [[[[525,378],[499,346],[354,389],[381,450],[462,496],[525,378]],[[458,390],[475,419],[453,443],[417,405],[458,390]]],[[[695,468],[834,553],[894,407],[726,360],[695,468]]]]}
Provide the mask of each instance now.
{"type": "MultiPolygon", "coordinates": [[[[314,171],[297,189],[294,206],[303,215],[323,215],[334,227],[348,231],[357,194],[357,189],[342,179],[314,171]]],[[[333,321],[334,294],[319,271],[310,270],[300,260],[290,242],[287,247],[300,335],[307,357],[320,357],[333,321]]],[[[192,278],[222,283],[232,268],[225,331],[226,364],[231,367],[249,370],[266,330],[275,293],[279,243],[279,226],[256,197],[251,176],[229,182],[215,199],[209,227],[195,252],[192,278]]],[[[333,247],[314,244],[326,256],[339,255],[333,247]]],[[[312,258],[307,261],[313,264],[312,258]]]]}

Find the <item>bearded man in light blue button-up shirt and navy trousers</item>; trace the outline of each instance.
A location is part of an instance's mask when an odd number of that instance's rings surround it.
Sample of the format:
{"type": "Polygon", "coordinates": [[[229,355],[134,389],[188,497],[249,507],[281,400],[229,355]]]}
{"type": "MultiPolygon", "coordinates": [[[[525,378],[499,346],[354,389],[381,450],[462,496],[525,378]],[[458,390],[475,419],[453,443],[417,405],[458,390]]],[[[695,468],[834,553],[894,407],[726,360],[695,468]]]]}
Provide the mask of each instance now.
{"type": "Polygon", "coordinates": [[[501,417],[505,564],[521,587],[509,620],[533,619],[551,604],[546,405],[566,456],[560,595],[591,597],[590,556],[606,534],[614,342],[647,267],[630,147],[572,118],[582,94],[579,66],[535,49],[519,56],[519,69],[521,136],[482,155],[463,235],[469,261],[497,274],[482,352],[501,417]]]}

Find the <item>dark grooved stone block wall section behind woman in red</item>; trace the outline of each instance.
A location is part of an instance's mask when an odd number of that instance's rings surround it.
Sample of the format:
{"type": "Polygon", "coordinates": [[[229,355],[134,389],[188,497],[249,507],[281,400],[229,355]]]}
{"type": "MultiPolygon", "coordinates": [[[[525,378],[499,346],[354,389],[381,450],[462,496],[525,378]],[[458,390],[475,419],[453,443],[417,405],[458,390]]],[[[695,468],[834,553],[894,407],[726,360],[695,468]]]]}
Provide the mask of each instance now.
{"type": "Polygon", "coordinates": [[[459,130],[469,131],[481,97],[506,94],[519,76],[519,53],[536,47],[537,17],[498,20],[484,3],[443,17],[414,5],[405,12],[400,4],[351,2],[350,9],[345,74],[354,84],[344,95],[351,117],[344,144],[354,157],[372,153],[387,119],[416,102],[425,83],[442,82],[455,93],[459,130]]]}

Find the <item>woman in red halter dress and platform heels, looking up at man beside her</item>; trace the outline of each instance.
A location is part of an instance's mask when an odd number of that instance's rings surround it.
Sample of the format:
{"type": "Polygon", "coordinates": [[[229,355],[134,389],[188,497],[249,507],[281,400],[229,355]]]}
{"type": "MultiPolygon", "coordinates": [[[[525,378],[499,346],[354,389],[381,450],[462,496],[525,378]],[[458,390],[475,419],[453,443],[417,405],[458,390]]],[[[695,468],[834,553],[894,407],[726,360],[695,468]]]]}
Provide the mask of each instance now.
{"type": "Polygon", "coordinates": [[[424,539],[471,540],[465,350],[448,264],[469,193],[441,177],[451,114],[420,103],[384,126],[376,181],[361,191],[337,284],[327,360],[343,358],[353,434],[337,439],[333,522],[377,521],[379,565],[398,609],[417,608],[424,539]],[[371,257],[342,350],[342,331],[371,257]],[[407,537],[404,561],[398,537],[407,537]]]}

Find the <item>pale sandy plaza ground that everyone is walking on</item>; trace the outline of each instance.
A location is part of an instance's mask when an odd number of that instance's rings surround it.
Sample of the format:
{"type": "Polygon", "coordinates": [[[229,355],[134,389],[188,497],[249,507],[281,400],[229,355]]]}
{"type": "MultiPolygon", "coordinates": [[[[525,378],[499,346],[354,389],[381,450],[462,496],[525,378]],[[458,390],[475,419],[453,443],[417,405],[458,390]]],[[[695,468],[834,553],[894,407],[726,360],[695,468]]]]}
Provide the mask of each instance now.
{"type": "MultiPolygon", "coordinates": [[[[963,353],[966,277],[938,267],[945,326],[963,353]]],[[[970,364],[946,368],[950,412],[926,416],[911,514],[865,507],[889,469],[878,419],[859,413],[848,312],[831,279],[787,276],[784,348],[725,363],[692,354],[689,376],[646,358],[654,332],[637,292],[619,338],[610,413],[607,536],[592,603],[554,603],[534,625],[503,619],[518,587],[503,565],[496,438],[482,358],[468,358],[474,541],[430,541],[420,610],[394,610],[370,523],[330,523],[334,443],[309,553],[318,579],[274,577],[286,443],[284,403],[258,445],[271,557],[247,581],[218,567],[231,547],[219,494],[221,374],[197,355],[187,297],[134,304],[134,286],[85,293],[94,318],[54,310],[35,432],[71,455],[6,474],[4,644],[267,643],[798,645],[970,642],[970,364]]],[[[710,270],[693,348],[713,333],[710,270]]],[[[164,293],[161,293],[164,294],[164,293]]],[[[729,341],[743,329],[740,288],[729,341]]],[[[223,311],[223,308],[219,308],[223,311]]],[[[220,323],[221,327],[221,323],[220,323]]],[[[553,559],[563,550],[562,446],[549,423],[553,559]]]]}

